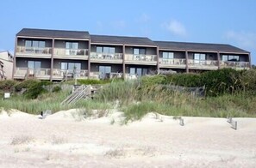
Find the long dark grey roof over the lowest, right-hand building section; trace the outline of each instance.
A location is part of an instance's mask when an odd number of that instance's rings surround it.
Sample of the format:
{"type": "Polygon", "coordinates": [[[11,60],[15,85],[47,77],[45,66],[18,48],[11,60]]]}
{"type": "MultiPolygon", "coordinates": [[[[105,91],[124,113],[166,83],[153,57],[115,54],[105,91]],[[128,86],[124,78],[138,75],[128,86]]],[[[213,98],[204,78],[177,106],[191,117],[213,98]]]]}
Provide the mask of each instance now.
{"type": "Polygon", "coordinates": [[[187,51],[220,51],[220,52],[246,52],[233,45],[207,44],[207,43],[185,43],[173,41],[154,41],[159,45],[159,50],[187,50],[187,51]]]}

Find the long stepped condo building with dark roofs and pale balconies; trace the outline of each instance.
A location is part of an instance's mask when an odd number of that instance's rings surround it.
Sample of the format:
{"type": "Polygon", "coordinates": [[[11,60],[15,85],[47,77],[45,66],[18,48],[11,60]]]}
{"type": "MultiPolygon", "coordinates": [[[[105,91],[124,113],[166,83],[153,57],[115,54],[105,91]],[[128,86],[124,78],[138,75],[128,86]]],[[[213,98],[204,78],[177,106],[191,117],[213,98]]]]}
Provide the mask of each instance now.
{"type": "Polygon", "coordinates": [[[86,31],[23,28],[16,34],[13,79],[105,79],[222,68],[250,69],[250,52],[232,45],[153,41],[86,31]]]}

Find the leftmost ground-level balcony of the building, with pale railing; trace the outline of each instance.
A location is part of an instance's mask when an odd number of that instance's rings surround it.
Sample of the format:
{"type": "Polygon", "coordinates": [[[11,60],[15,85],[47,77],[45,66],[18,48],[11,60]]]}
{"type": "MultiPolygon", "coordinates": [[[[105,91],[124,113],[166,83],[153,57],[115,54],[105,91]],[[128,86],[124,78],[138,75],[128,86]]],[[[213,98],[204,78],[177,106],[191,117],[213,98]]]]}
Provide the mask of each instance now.
{"type": "Polygon", "coordinates": [[[15,79],[36,78],[39,80],[50,80],[51,69],[28,69],[16,68],[15,79]]]}

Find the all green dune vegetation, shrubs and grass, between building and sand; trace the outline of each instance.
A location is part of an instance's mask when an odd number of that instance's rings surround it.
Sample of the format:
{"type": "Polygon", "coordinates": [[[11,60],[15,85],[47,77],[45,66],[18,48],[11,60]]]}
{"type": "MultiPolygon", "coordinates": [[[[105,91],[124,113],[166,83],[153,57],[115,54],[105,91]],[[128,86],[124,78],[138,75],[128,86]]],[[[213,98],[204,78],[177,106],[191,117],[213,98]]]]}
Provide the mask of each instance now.
{"type": "Polygon", "coordinates": [[[138,120],[151,111],[169,116],[256,117],[256,69],[153,75],[135,81],[78,80],[78,84],[100,84],[103,88],[94,99],[60,105],[71,93],[71,89],[62,89],[61,84],[35,80],[0,81],[2,93],[9,91],[12,94],[10,99],[1,101],[0,106],[5,110],[17,109],[33,114],[47,109],[53,112],[72,108],[106,111],[118,100],[118,108],[126,117],[125,123],[138,120]],[[205,87],[205,97],[180,92],[170,86],[205,87]]]}

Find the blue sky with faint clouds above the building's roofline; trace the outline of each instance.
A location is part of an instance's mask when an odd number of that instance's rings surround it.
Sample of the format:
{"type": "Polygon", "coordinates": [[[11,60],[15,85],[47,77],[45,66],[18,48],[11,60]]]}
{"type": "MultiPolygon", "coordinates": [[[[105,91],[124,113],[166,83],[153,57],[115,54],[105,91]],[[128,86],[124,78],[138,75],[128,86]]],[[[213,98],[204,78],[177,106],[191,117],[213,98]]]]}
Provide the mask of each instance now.
{"type": "Polygon", "coordinates": [[[256,64],[255,0],[3,0],[0,50],[23,27],[230,44],[256,64]]]}

